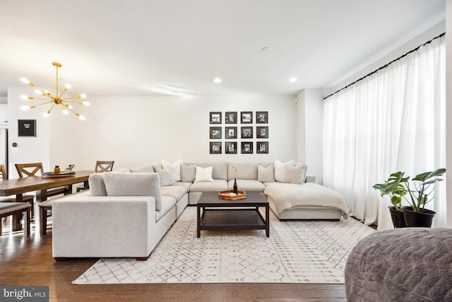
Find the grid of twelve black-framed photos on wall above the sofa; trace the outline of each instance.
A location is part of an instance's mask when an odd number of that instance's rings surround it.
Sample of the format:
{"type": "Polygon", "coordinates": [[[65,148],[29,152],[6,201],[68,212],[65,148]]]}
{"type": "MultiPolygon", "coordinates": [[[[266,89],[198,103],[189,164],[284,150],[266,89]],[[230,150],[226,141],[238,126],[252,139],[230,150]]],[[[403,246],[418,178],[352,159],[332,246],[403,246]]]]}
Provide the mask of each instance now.
{"type": "Polygon", "coordinates": [[[268,111],[210,112],[209,122],[210,154],[268,153],[268,111]]]}

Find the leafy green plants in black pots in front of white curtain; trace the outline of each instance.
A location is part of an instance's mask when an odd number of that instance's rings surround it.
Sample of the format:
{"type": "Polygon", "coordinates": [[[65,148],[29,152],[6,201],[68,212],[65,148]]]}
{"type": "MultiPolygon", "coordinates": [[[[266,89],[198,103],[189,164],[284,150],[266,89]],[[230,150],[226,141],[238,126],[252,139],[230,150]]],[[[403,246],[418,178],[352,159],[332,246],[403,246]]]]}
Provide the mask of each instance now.
{"type": "Polygon", "coordinates": [[[404,172],[398,171],[389,175],[384,183],[373,186],[375,190],[380,191],[383,197],[388,194],[391,197],[393,208],[391,217],[394,227],[403,226],[432,226],[433,217],[436,212],[424,209],[425,204],[432,200],[434,188],[431,187],[435,182],[441,181],[446,169],[439,168],[434,171],[424,172],[416,175],[410,181],[410,177],[404,176],[404,172]],[[402,207],[402,199],[408,202],[409,207],[402,207]],[[400,221],[403,214],[403,222],[400,221]]]}

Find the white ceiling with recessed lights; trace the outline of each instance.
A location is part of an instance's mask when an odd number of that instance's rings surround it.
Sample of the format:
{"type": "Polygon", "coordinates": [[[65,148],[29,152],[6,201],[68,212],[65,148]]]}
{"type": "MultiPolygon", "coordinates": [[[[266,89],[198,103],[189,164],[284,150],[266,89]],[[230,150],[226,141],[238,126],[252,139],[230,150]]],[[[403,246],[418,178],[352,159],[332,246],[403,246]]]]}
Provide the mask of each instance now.
{"type": "Polygon", "coordinates": [[[334,86],[445,11],[446,0],[0,0],[0,96],[22,76],[54,88],[52,62],[88,96],[296,95],[334,86]]]}

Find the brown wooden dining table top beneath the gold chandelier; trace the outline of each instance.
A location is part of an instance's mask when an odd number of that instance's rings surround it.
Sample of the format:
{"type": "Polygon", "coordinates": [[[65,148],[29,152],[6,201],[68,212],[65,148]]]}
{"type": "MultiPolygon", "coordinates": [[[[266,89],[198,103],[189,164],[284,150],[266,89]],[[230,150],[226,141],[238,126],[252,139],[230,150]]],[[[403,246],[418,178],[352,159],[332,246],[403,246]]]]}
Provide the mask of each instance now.
{"type": "MultiPolygon", "coordinates": [[[[73,175],[55,178],[43,178],[41,175],[28,176],[0,181],[0,196],[16,194],[16,202],[23,202],[23,194],[36,191],[36,202],[47,200],[47,189],[52,187],[68,187],[64,194],[72,194],[72,185],[83,182],[83,188],[88,189],[88,178],[95,170],[76,171],[73,175]]],[[[22,229],[20,221],[13,219],[13,231],[22,229]]]]}

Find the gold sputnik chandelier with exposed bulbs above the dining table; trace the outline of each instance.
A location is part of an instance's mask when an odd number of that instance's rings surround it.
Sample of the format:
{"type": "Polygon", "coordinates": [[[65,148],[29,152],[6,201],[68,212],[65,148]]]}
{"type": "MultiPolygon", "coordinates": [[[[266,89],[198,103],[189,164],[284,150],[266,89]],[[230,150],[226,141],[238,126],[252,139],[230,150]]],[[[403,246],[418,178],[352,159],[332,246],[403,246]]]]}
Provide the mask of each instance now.
{"type": "Polygon", "coordinates": [[[82,93],[82,94],[76,95],[72,98],[61,98],[64,95],[64,93],[66,93],[66,91],[68,91],[68,89],[71,88],[71,84],[66,84],[66,86],[64,86],[64,89],[60,93],[58,90],[58,67],[61,67],[61,64],[59,64],[57,62],[52,62],[52,65],[57,67],[57,80],[56,80],[57,81],[57,92],[55,93],[55,95],[52,95],[52,93],[49,93],[49,91],[44,91],[41,88],[38,88],[34,83],[28,81],[28,79],[25,79],[25,78],[20,79],[20,81],[23,81],[23,83],[28,84],[28,85],[32,86],[33,88],[35,88],[35,93],[37,93],[38,95],[43,95],[45,97],[45,98],[35,98],[33,96],[21,95],[20,98],[22,98],[23,100],[45,100],[46,101],[46,102],[35,104],[35,105],[22,106],[21,107],[22,110],[29,110],[31,108],[35,108],[37,106],[45,105],[45,104],[52,104],[49,107],[49,110],[44,112],[44,117],[48,117],[50,112],[52,111],[52,109],[55,106],[57,106],[57,107],[61,107],[61,109],[63,110],[63,113],[65,115],[69,114],[69,111],[71,111],[71,112],[73,112],[73,114],[77,115],[78,118],[80,118],[81,120],[85,120],[85,117],[83,115],[80,115],[78,112],[75,112],[73,110],[73,107],[71,104],[89,106],[90,102],[80,102],[77,100],[73,100],[76,98],[86,98],[86,95],[84,93],[82,93]]]}

